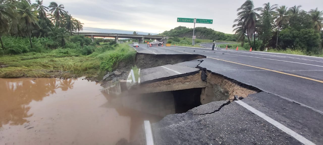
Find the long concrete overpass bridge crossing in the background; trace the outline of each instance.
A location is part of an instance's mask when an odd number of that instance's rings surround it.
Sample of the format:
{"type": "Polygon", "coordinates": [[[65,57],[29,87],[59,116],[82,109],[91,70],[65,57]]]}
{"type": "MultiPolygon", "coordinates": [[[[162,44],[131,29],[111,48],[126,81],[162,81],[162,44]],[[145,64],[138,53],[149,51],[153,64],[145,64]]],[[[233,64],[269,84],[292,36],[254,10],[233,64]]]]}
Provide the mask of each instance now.
{"type": "MultiPolygon", "coordinates": [[[[78,35],[78,33],[75,33],[78,35]]],[[[94,41],[94,37],[114,37],[116,42],[118,42],[118,38],[130,38],[130,39],[139,39],[139,43],[144,43],[145,39],[158,40],[163,41],[166,39],[166,36],[156,36],[156,35],[134,35],[134,34],[116,34],[116,33],[94,33],[94,32],[80,32],[79,35],[85,35],[92,38],[92,42],[94,41]]]]}

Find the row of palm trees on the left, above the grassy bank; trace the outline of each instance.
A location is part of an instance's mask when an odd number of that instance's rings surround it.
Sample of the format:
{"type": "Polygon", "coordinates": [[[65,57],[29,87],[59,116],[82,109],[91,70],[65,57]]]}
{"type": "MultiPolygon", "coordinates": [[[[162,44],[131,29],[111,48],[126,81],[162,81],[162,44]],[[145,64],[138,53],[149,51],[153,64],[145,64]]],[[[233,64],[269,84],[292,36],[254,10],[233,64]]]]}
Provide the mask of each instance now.
{"type": "Polygon", "coordinates": [[[0,0],[0,41],[2,36],[54,39],[64,46],[73,32],[83,30],[83,23],[73,18],[64,5],[51,2],[43,5],[43,0],[0,0]]]}

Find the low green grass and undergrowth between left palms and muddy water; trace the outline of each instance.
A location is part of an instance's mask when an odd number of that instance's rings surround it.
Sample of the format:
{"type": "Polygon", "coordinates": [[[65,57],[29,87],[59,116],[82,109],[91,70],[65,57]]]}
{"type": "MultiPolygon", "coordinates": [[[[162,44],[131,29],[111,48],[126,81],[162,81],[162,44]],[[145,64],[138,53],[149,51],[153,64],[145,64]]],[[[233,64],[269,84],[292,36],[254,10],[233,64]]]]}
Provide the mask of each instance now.
{"type": "MultiPolygon", "coordinates": [[[[68,46],[67,44],[66,46],[68,46]]],[[[72,46],[72,45],[71,45],[72,46]]],[[[109,44],[102,47],[81,46],[58,48],[46,52],[28,52],[0,57],[0,62],[8,65],[0,69],[1,78],[50,77],[55,76],[95,76],[100,71],[112,71],[122,62],[133,62],[136,52],[127,44],[109,44]],[[83,55],[91,49],[93,53],[83,55]],[[52,74],[59,70],[62,74],[52,74]]],[[[104,74],[105,75],[105,74],[104,74]]]]}

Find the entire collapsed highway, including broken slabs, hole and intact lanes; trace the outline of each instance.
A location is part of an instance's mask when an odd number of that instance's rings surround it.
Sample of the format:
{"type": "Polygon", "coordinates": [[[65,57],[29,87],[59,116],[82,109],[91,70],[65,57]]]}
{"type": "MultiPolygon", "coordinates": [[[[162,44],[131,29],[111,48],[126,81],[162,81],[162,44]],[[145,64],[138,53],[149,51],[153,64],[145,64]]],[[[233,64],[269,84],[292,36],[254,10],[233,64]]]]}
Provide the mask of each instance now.
{"type": "Polygon", "coordinates": [[[141,84],[123,94],[132,100],[128,106],[138,106],[140,96],[147,100],[141,110],[161,112],[164,118],[151,123],[155,144],[323,143],[322,58],[221,48],[135,49],[206,57],[146,67],[141,84]]]}

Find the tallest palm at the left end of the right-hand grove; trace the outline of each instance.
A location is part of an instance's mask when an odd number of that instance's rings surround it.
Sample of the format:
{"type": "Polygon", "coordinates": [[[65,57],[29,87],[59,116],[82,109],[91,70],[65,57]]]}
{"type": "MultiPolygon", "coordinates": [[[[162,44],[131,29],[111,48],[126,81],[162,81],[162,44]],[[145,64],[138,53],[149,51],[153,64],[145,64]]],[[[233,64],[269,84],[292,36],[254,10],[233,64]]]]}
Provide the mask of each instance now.
{"type": "MultiPolygon", "coordinates": [[[[244,4],[241,5],[240,8],[237,9],[238,12],[238,18],[239,20],[243,21],[245,24],[245,29],[247,32],[247,36],[248,36],[248,41],[251,47],[251,43],[250,43],[250,38],[252,37],[252,35],[255,34],[255,25],[257,23],[257,18],[260,18],[261,16],[256,13],[256,11],[261,10],[261,8],[254,8],[254,2],[251,0],[247,0],[245,1],[244,4]]],[[[255,42],[254,42],[255,45],[255,42]]]]}

